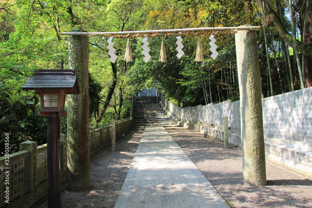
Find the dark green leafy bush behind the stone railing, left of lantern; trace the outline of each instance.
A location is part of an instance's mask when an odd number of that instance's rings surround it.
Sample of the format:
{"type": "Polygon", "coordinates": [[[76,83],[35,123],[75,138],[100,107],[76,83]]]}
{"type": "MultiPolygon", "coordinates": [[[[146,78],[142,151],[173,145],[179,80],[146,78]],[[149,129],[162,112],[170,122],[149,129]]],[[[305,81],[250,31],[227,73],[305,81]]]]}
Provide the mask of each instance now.
{"type": "MultiPolygon", "coordinates": [[[[3,82],[0,86],[5,88],[3,82]]],[[[46,134],[41,131],[46,119],[38,115],[37,103],[35,94],[0,90],[0,135],[4,138],[4,134],[9,133],[10,152],[18,151],[19,143],[26,140],[35,141],[38,145],[46,143],[46,134]]],[[[3,153],[4,140],[0,141],[0,156],[3,153]]]]}

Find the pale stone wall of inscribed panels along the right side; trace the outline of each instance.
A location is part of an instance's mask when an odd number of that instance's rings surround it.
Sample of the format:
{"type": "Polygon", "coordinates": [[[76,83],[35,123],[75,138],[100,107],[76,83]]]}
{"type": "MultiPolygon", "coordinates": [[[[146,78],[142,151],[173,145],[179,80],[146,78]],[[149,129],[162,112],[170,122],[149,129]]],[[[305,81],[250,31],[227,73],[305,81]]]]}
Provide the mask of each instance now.
{"type": "MultiPolygon", "coordinates": [[[[227,100],[218,104],[179,108],[162,96],[166,108],[182,121],[223,126],[227,116],[231,130],[240,131],[240,103],[227,100]]],[[[312,87],[262,99],[265,138],[312,143],[312,87]]]]}

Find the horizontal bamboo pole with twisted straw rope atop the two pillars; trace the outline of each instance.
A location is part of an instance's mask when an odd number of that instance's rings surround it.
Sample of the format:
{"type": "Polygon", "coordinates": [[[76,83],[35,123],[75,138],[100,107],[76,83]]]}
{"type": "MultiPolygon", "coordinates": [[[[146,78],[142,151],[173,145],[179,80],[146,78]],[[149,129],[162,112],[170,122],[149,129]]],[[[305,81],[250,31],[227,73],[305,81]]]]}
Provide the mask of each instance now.
{"type": "MultiPolygon", "coordinates": [[[[70,36],[117,36],[117,35],[128,35],[128,36],[148,36],[150,34],[157,34],[158,36],[163,36],[168,34],[178,35],[178,33],[183,33],[180,35],[190,35],[198,36],[202,32],[216,32],[217,34],[227,34],[236,33],[239,30],[260,30],[261,26],[250,26],[250,27],[197,27],[197,28],[184,28],[184,29],[170,29],[170,30],[144,30],[144,31],[122,31],[122,32],[62,32],[61,35],[70,36]],[[197,33],[197,34],[196,34],[197,33]]],[[[126,38],[126,37],[123,37],[126,38]]],[[[128,37],[127,37],[128,38],[128,37]]]]}

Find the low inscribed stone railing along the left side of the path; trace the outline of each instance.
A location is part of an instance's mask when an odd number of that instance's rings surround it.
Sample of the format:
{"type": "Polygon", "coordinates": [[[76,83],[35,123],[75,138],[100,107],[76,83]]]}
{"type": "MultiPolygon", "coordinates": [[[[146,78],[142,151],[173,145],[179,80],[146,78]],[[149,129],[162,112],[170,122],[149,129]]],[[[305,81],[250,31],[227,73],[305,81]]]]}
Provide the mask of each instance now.
{"type": "MultiPolygon", "coordinates": [[[[116,139],[122,138],[132,127],[133,120],[116,121],[116,139]]],[[[90,157],[111,145],[111,125],[90,128],[90,157]]],[[[61,180],[67,176],[67,138],[60,139],[61,180]]],[[[20,143],[20,151],[0,157],[0,207],[31,207],[48,190],[47,144],[20,143]],[[6,161],[7,160],[7,161],[6,161]],[[7,164],[8,162],[8,164],[7,164]],[[9,203],[7,203],[9,202],[9,203]]]]}

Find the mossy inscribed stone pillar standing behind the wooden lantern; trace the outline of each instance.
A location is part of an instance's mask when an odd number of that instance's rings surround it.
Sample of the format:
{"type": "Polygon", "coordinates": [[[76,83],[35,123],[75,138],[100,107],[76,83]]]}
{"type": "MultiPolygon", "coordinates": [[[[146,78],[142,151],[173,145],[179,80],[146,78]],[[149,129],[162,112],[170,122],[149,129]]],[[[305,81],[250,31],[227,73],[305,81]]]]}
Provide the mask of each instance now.
{"type": "MultiPolygon", "coordinates": [[[[76,32],[85,32],[76,30],[76,32]]],[[[68,95],[68,188],[80,191],[91,187],[89,144],[89,37],[68,36],[68,67],[75,69],[80,94],[68,95]]]]}

